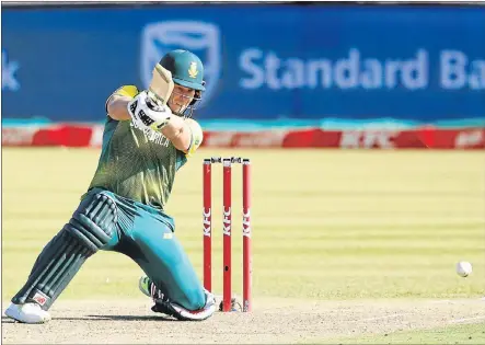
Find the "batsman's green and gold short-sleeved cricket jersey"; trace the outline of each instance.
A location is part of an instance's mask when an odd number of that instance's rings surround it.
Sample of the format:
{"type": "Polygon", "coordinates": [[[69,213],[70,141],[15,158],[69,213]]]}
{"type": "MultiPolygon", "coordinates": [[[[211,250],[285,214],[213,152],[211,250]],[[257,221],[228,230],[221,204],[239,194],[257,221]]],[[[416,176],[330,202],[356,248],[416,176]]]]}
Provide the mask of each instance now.
{"type": "MultiPolygon", "coordinates": [[[[125,85],[113,94],[135,97],[138,89],[125,85]]],[[[193,138],[187,152],[177,150],[161,133],[139,129],[131,120],[106,116],[103,146],[90,188],[102,187],[142,204],[163,209],[175,173],[200,145],[201,129],[190,122],[193,138]]]]}

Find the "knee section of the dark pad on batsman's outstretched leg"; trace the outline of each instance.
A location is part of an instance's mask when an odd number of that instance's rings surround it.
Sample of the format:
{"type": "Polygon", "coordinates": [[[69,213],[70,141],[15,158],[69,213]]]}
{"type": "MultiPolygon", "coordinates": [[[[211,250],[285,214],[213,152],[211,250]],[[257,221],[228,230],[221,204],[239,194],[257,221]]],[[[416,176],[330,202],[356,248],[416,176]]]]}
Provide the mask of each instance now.
{"type": "Polygon", "coordinates": [[[116,203],[104,193],[96,193],[81,202],[63,230],[95,253],[113,238],[116,222],[116,203]]]}

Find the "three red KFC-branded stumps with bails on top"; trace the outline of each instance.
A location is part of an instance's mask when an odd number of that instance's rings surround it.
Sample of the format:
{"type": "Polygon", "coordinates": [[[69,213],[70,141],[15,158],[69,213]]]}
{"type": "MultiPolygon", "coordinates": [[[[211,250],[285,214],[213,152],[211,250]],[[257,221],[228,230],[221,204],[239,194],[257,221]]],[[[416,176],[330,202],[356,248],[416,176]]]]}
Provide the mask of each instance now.
{"type": "Polygon", "coordinates": [[[223,188],[223,295],[222,311],[231,311],[231,230],[232,230],[232,164],[242,163],[242,229],[243,229],[243,311],[252,309],[252,257],[251,257],[251,162],[240,157],[204,159],[204,287],[212,289],[212,163],[222,163],[223,188]]]}

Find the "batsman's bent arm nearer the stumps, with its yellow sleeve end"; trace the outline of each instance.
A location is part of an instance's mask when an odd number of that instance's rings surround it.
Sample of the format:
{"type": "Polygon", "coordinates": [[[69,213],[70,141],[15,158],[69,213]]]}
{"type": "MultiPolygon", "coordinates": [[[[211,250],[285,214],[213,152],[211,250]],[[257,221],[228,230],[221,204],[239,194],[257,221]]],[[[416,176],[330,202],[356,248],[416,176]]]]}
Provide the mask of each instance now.
{"type": "Polygon", "coordinates": [[[172,115],[168,124],[160,131],[173,146],[187,156],[190,156],[203,142],[203,130],[199,124],[192,119],[172,115]]]}

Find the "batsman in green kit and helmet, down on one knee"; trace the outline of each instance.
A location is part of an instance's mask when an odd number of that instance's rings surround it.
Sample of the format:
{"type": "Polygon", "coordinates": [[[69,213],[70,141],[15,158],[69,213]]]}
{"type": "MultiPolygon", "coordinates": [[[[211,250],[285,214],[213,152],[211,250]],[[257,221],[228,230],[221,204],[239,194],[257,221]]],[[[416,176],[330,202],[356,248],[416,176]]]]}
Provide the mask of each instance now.
{"type": "Polygon", "coordinates": [[[164,212],[176,172],[203,141],[192,114],[205,91],[204,66],[193,53],[173,50],[155,68],[165,80],[153,90],[165,95],[124,85],[107,99],[103,146],[88,192],[38,255],[5,310],[9,318],[49,321],[49,308],[99,250],[125,254],[141,267],[139,287],[153,299],[154,312],[178,320],[206,320],[215,312],[213,295],[201,286],[164,212]]]}

